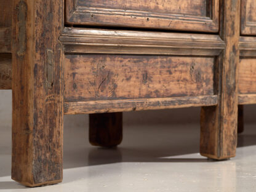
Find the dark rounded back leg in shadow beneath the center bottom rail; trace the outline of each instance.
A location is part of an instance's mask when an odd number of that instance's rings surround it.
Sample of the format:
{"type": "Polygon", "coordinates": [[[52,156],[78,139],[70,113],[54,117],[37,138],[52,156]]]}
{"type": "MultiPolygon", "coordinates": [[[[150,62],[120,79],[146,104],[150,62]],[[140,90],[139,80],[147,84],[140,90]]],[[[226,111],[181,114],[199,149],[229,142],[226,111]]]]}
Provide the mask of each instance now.
{"type": "Polygon", "coordinates": [[[89,141],[94,146],[119,145],[122,142],[122,113],[89,114],[89,141]]]}

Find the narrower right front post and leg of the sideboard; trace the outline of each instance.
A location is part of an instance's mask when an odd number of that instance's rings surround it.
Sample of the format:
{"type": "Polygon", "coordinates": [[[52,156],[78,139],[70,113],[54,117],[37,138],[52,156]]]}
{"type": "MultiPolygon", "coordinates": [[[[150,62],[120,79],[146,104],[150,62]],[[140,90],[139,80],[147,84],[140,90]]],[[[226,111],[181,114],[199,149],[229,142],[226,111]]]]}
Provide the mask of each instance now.
{"type": "Polygon", "coordinates": [[[220,36],[226,47],[217,58],[215,70],[218,105],[202,107],[200,153],[212,159],[227,159],[236,155],[238,94],[237,66],[239,62],[240,0],[220,1],[220,36]]]}

